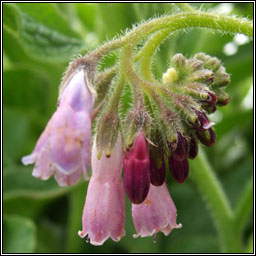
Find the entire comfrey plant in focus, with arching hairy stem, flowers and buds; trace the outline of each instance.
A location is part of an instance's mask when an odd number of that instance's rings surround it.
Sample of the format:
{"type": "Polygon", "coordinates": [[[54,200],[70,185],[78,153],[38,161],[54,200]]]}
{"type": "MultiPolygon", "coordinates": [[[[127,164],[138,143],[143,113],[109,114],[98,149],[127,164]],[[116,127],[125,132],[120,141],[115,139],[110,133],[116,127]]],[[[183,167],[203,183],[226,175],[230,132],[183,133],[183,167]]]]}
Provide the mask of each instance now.
{"type": "MultiPolygon", "coordinates": [[[[91,162],[79,235],[93,245],[102,245],[109,237],[119,241],[125,235],[125,194],[132,202],[134,237],[168,235],[181,228],[166,186],[166,170],[183,183],[189,175],[188,159],[196,158],[199,142],[212,146],[216,140],[214,123],[207,115],[230,100],[225,92],[230,75],[223,63],[205,53],[191,57],[177,53],[157,80],[152,56],[177,30],[196,27],[252,37],[252,22],[179,6],[183,12],[144,22],[71,62],[60,85],[56,112],[32,154],[22,159],[24,164],[35,163],[35,177],[46,180],[54,175],[60,186],[75,184],[81,175],[88,178],[91,162]],[[98,71],[99,61],[113,51],[119,61],[98,71]],[[125,107],[122,95],[129,88],[131,102],[125,107]]],[[[225,219],[229,205],[213,174],[201,169],[198,176],[208,186],[203,184],[202,189],[223,244],[233,250],[234,234],[225,219]]]]}

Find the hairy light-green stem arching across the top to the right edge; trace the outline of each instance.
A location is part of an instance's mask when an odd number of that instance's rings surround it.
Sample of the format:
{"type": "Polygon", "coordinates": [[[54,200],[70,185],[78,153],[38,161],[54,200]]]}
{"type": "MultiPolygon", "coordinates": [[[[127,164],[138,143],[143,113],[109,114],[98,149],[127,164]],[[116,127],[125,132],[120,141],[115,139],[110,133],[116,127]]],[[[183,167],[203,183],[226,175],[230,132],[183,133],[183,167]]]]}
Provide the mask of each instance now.
{"type": "Polygon", "coordinates": [[[217,15],[207,12],[193,11],[163,16],[134,28],[124,37],[105,43],[87,56],[101,58],[109,51],[116,50],[128,42],[137,43],[147,35],[160,29],[169,28],[169,33],[184,28],[209,28],[229,33],[242,33],[253,37],[253,23],[247,19],[217,15]]]}

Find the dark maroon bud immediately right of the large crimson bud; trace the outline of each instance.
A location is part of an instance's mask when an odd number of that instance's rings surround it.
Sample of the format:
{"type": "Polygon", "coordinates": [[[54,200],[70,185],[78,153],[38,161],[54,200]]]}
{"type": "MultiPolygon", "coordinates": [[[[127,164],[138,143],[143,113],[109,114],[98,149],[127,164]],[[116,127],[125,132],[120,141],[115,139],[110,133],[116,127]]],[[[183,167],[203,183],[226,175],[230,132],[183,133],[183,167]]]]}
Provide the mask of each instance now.
{"type": "Polygon", "coordinates": [[[150,182],[154,186],[161,186],[165,182],[166,166],[164,160],[161,162],[160,168],[157,167],[155,159],[150,156],[150,182]]]}

